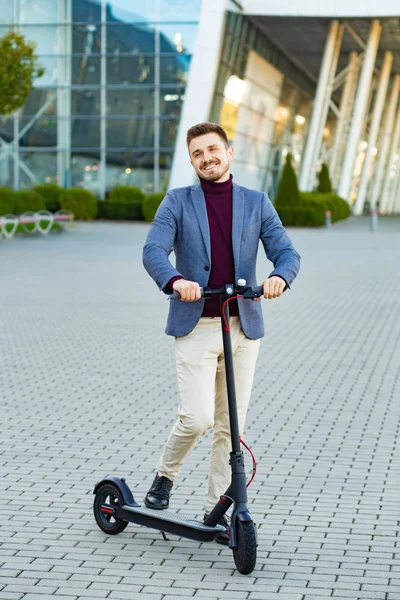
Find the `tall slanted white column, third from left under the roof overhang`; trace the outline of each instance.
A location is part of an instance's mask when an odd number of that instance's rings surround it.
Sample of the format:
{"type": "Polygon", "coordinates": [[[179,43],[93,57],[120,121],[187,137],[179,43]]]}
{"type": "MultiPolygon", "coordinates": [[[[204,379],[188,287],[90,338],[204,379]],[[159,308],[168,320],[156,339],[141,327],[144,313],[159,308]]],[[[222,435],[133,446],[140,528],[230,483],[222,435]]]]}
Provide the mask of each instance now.
{"type": "Polygon", "coordinates": [[[365,112],[368,103],[369,89],[371,86],[372,75],[374,72],[376,53],[378,51],[379,40],[382,27],[378,19],[374,19],[368,37],[368,44],[365,51],[363,66],[361,69],[360,81],[358,84],[353,118],[350,125],[349,137],[343,160],[342,176],[339,183],[338,194],[345,200],[349,199],[354,163],[358,152],[358,144],[363,128],[365,112]]]}

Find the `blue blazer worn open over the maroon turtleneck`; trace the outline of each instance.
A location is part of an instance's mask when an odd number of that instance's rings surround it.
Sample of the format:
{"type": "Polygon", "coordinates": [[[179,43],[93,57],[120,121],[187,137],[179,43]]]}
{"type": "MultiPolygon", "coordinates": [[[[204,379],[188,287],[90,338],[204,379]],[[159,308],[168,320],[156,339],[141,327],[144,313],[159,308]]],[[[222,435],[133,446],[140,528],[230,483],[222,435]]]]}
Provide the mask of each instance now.
{"type": "MultiPolygon", "coordinates": [[[[299,271],[300,256],[268,196],[234,183],[232,204],[236,281],[245,279],[247,285],[258,285],[256,260],[261,240],[267,258],[274,265],[270,276],[280,275],[290,286],[299,271]]],[[[212,268],[210,229],[200,184],[167,193],[151,224],[143,249],[143,264],[164,292],[170,279],[177,275],[196,281],[201,287],[208,285],[212,268]],[[172,250],[175,251],[176,267],[168,258],[172,250]]],[[[180,302],[171,298],[166,333],[175,337],[190,333],[201,317],[204,302],[204,299],[180,302]]],[[[244,334],[250,339],[263,337],[261,303],[239,299],[238,306],[244,334]]]]}

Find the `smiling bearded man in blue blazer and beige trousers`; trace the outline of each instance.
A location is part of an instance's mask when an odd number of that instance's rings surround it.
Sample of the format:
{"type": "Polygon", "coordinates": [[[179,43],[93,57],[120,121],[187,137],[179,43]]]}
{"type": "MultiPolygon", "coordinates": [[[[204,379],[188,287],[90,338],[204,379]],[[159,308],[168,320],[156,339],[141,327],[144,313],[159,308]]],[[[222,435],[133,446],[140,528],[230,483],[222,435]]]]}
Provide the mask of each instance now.
{"type": "MultiPolygon", "coordinates": [[[[170,190],[151,225],[143,264],[171,299],[167,329],[175,336],[180,392],[179,415],[157,474],[146,495],[150,508],[165,509],[173,481],[198,439],[214,427],[205,516],[230,482],[230,426],[219,299],[205,301],[200,287],[219,288],[245,279],[257,285],[256,258],[261,239],[274,270],[263,281],[264,298],[278,298],[296,277],[300,257],[294,250],[266,194],[232,182],[234,149],[216,123],[200,123],[187,132],[190,162],[197,185],[170,190]],[[176,268],[168,256],[175,251],[176,268]]],[[[242,435],[250,399],[260,338],[264,335],[257,302],[230,302],[231,336],[239,431],[242,435]]],[[[226,532],[216,538],[228,543],[226,532]]]]}

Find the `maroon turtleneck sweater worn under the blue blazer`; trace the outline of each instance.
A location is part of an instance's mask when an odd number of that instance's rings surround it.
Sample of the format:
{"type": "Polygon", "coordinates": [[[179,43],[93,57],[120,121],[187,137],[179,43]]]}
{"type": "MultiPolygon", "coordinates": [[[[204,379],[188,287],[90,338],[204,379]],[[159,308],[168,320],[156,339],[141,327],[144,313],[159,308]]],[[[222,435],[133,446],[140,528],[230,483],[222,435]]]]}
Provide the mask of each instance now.
{"type": "MultiPolygon", "coordinates": [[[[211,241],[211,270],[208,287],[220,288],[226,283],[235,283],[235,265],[232,248],[232,175],[228,181],[211,183],[200,179],[200,185],[206,199],[208,225],[211,241]]],[[[181,277],[173,277],[168,288],[181,277]]],[[[229,303],[229,312],[237,316],[237,301],[229,303]]],[[[204,303],[203,317],[220,315],[219,298],[213,297],[204,303]]]]}

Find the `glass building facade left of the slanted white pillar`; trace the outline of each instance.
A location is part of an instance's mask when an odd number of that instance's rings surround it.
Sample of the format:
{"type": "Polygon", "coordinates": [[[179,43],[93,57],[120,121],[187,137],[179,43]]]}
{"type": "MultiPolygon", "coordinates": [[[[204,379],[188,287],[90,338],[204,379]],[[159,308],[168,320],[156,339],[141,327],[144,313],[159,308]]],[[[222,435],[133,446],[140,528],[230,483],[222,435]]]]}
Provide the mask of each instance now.
{"type": "Polygon", "coordinates": [[[9,0],[45,74],[0,120],[2,185],[168,185],[201,0],[9,0]]]}

